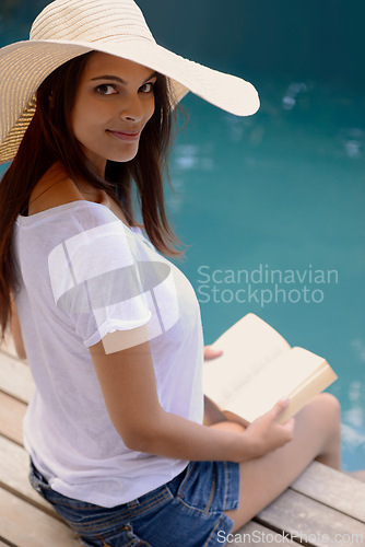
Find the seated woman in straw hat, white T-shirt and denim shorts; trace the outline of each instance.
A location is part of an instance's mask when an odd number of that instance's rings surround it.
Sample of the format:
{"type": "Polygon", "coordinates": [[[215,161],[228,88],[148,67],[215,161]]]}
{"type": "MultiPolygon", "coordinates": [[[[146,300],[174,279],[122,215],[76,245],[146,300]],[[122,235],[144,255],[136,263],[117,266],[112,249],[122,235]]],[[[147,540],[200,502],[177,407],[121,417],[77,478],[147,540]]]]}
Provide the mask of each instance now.
{"type": "Polygon", "coordinates": [[[84,545],[201,547],[311,459],[340,467],[329,394],[283,426],[287,401],[247,429],[204,412],[199,305],[166,258],[174,107],[192,91],[248,115],[255,89],[157,46],[132,0],[56,0],[2,48],[0,73],[1,325],[37,386],[32,485],[84,545]]]}

